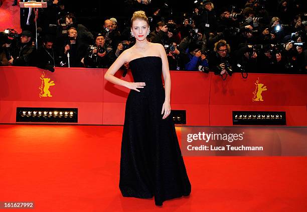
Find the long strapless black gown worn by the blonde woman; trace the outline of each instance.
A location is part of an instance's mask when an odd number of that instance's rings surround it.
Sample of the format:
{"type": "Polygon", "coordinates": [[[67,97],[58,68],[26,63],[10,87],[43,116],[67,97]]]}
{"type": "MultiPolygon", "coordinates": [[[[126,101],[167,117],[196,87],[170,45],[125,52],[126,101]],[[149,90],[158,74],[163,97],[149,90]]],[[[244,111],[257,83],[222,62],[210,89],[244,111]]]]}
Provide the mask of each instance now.
{"type": "Polygon", "coordinates": [[[148,56],[129,62],[140,92],[130,90],[122,133],[119,188],[123,196],[151,198],[156,205],[188,196],[191,184],[171,116],[162,119],[165,90],[162,60],[148,56]]]}

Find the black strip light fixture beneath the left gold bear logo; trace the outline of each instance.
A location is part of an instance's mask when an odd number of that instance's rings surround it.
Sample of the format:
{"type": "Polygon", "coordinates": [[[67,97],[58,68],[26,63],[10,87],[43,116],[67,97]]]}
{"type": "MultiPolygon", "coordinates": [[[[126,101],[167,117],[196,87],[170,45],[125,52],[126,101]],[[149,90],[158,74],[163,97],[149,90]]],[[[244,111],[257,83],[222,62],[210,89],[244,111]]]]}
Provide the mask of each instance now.
{"type": "Polygon", "coordinates": [[[78,109],[16,108],[16,122],[78,123],[78,109]]]}

